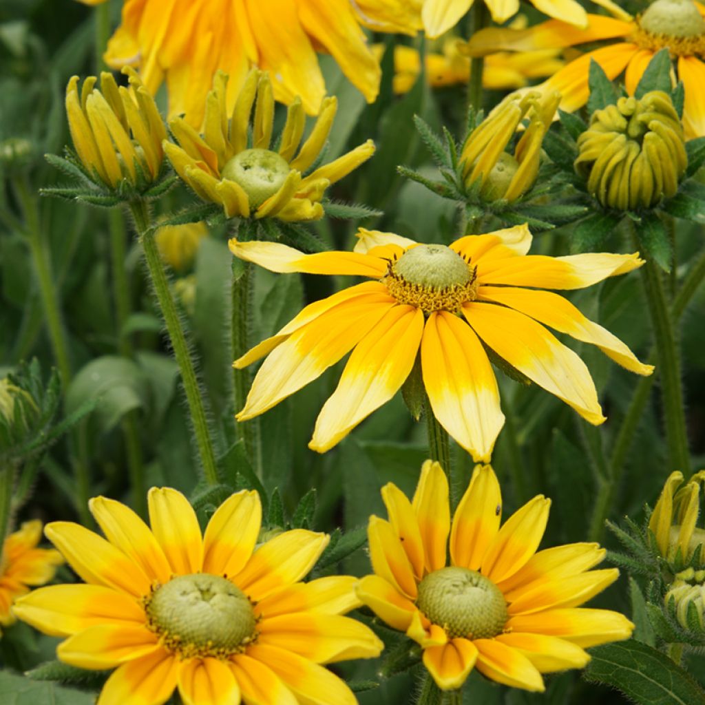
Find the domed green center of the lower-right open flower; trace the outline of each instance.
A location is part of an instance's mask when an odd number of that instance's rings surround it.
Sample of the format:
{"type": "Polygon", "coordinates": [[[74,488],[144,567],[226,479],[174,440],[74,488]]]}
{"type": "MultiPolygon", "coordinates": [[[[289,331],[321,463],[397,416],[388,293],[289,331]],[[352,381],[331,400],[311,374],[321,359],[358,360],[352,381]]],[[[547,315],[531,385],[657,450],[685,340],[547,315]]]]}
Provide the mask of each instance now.
{"type": "Polygon", "coordinates": [[[467,568],[441,568],[419,583],[416,606],[450,638],[491,639],[508,620],[502,591],[467,568]]]}

